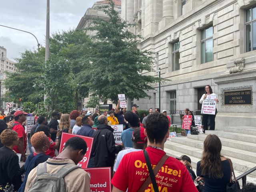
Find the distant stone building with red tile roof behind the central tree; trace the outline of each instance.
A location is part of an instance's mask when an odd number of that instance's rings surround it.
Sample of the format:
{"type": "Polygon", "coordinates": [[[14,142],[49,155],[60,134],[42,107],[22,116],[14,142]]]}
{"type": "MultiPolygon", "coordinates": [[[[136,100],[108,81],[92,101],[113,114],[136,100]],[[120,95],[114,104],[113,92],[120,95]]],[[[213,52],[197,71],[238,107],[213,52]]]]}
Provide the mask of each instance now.
{"type": "MultiPolygon", "coordinates": [[[[120,16],[121,16],[121,1],[120,0],[113,0],[113,2],[115,3],[115,9],[120,12],[120,16]]],[[[81,18],[78,26],[76,27],[76,29],[83,29],[86,28],[88,26],[90,26],[90,24],[92,23],[92,19],[94,18],[102,18],[104,20],[108,20],[109,17],[103,12],[102,9],[100,9],[100,6],[104,6],[104,5],[108,5],[108,0],[105,1],[97,1],[93,4],[93,6],[91,8],[88,8],[84,14],[84,16],[81,18]]],[[[89,36],[93,35],[94,32],[93,31],[88,31],[87,34],[89,36]]],[[[89,101],[89,98],[84,98],[82,101],[82,108],[86,108],[86,103],[89,101]]],[[[112,104],[112,102],[110,100],[108,100],[107,102],[100,102],[100,104],[112,104]]],[[[113,108],[115,108],[115,105],[113,104],[113,108]]],[[[92,109],[87,109],[87,110],[92,110],[92,109]]]]}

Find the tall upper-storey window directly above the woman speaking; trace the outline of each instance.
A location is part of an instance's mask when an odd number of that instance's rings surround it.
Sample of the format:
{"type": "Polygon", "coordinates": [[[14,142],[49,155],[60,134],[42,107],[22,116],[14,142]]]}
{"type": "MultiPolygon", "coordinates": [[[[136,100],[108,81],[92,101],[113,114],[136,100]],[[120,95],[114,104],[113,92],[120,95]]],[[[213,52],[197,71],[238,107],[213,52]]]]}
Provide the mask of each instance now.
{"type": "Polygon", "coordinates": [[[213,27],[201,30],[201,63],[213,61],[213,27]]]}

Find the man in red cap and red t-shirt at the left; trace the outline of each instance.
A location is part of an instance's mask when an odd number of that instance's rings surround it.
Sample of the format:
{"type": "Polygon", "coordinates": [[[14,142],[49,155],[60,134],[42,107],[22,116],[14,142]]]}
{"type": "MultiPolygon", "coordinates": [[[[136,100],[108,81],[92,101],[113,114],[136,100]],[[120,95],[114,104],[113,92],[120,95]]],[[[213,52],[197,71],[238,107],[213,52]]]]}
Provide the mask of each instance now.
{"type": "Polygon", "coordinates": [[[16,153],[21,154],[21,161],[26,161],[26,148],[27,148],[27,137],[24,127],[22,126],[22,123],[26,121],[26,116],[28,113],[23,112],[22,110],[18,110],[14,113],[14,126],[12,130],[16,131],[18,133],[19,142],[18,145],[13,147],[13,150],[16,153]]]}

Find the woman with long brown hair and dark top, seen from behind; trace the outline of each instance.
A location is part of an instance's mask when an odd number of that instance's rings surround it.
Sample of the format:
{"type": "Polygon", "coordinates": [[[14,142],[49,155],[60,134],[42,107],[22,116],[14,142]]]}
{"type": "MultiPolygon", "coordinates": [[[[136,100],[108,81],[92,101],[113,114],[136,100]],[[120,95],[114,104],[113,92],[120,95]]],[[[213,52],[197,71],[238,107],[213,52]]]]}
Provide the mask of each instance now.
{"type": "Polygon", "coordinates": [[[204,180],[204,192],[226,192],[226,185],[230,182],[230,163],[220,154],[221,148],[218,136],[205,138],[202,160],[196,166],[196,181],[204,180]]]}

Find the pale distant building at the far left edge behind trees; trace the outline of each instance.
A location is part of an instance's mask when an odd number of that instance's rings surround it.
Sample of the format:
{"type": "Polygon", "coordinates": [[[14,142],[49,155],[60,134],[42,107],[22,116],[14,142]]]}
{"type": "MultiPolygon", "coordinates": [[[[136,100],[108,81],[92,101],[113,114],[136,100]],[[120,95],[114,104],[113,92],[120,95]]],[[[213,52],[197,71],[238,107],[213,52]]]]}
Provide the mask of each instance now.
{"type": "MultiPolygon", "coordinates": [[[[0,46],[0,84],[1,84],[1,102],[0,108],[6,108],[6,102],[2,101],[4,94],[6,93],[6,88],[2,85],[2,81],[6,78],[5,72],[15,72],[17,68],[12,60],[7,58],[7,50],[3,46],[0,46]]],[[[11,101],[9,101],[11,102],[11,101]]]]}

